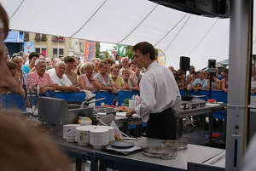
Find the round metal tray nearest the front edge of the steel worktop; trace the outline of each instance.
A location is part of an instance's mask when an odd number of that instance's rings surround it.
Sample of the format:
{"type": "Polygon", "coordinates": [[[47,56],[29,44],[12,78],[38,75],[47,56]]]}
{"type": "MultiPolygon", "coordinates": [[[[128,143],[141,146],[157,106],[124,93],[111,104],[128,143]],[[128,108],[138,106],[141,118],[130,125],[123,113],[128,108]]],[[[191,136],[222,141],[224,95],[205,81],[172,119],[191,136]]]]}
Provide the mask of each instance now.
{"type": "Polygon", "coordinates": [[[160,157],[161,159],[174,159],[177,157],[177,152],[168,146],[148,146],[143,148],[143,155],[160,157]]]}

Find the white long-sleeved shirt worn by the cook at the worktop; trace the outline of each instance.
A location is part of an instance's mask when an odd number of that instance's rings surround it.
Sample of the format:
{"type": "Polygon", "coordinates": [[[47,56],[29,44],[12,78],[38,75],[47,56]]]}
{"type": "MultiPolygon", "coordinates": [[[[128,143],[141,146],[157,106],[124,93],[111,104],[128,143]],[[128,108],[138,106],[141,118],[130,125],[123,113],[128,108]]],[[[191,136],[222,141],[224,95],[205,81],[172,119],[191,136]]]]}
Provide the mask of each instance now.
{"type": "Polygon", "coordinates": [[[153,62],[148,66],[140,82],[141,104],[135,111],[144,122],[149,113],[159,113],[169,107],[177,111],[181,105],[181,96],[172,72],[165,66],[153,62]]]}

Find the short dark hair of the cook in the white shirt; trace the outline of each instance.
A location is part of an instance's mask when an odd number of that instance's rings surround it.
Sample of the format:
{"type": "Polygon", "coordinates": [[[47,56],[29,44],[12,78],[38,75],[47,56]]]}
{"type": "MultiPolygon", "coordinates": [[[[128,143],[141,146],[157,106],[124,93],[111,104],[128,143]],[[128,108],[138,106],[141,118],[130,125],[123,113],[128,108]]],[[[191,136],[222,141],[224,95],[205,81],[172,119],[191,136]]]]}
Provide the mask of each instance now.
{"type": "Polygon", "coordinates": [[[147,42],[142,42],[142,43],[137,43],[133,48],[133,51],[139,50],[143,55],[149,53],[150,54],[150,59],[155,60],[155,51],[154,51],[154,46],[150,43],[147,42]]]}

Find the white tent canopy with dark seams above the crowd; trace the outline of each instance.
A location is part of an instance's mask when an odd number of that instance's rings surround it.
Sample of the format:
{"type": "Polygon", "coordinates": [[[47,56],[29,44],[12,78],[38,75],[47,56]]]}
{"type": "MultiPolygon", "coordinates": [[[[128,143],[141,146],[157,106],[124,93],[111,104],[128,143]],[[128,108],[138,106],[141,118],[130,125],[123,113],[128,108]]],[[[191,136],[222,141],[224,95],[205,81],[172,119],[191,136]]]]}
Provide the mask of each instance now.
{"type": "Polygon", "coordinates": [[[186,14],[147,0],[1,3],[10,29],[131,46],[147,41],[166,54],[166,66],[176,69],[180,56],[190,57],[196,70],[206,67],[209,59],[229,57],[229,19],[186,14]]]}

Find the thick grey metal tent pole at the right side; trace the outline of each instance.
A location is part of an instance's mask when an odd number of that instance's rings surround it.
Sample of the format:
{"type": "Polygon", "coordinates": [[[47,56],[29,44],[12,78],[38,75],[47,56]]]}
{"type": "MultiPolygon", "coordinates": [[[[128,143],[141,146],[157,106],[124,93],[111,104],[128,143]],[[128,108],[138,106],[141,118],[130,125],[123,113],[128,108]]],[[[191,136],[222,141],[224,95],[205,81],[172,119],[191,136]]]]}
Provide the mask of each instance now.
{"type": "Polygon", "coordinates": [[[230,1],[229,93],[226,170],[241,170],[247,145],[247,104],[251,78],[252,0],[230,1]],[[239,81],[238,81],[239,79],[239,81]]]}

